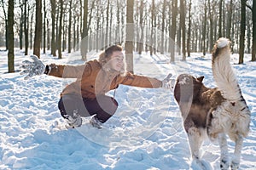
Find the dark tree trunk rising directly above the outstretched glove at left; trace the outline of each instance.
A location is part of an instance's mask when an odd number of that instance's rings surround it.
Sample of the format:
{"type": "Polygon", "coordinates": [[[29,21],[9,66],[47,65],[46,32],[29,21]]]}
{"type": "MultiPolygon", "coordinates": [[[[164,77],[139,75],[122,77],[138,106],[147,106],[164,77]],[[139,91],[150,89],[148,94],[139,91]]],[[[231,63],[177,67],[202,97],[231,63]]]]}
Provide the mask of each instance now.
{"type": "Polygon", "coordinates": [[[33,54],[37,55],[40,59],[40,48],[42,40],[42,0],[36,0],[36,27],[34,37],[34,50],[33,54]]]}

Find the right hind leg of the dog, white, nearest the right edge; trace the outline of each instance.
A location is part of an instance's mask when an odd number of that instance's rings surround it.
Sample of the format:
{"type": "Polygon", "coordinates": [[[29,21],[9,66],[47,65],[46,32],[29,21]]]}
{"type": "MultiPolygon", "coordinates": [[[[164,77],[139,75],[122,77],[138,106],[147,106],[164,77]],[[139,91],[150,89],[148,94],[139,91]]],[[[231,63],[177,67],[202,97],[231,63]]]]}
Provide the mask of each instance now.
{"type": "Polygon", "coordinates": [[[238,135],[235,142],[236,142],[235,152],[234,152],[234,157],[231,162],[232,170],[236,170],[239,168],[240,157],[241,157],[241,148],[242,148],[242,142],[243,142],[243,138],[241,137],[241,135],[238,135]]]}

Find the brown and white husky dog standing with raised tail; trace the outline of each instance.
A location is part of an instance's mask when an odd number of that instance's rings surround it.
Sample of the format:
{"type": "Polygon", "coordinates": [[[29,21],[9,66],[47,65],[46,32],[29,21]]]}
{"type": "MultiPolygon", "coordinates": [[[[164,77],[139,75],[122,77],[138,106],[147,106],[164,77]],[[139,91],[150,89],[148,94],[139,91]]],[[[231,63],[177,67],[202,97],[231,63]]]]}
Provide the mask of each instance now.
{"type": "Polygon", "coordinates": [[[230,41],[226,38],[218,39],[213,47],[212,73],[218,88],[207,88],[202,83],[204,77],[179,75],[174,97],[183,116],[193,160],[201,162],[199,150],[208,136],[220,146],[220,168],[238,169],[251,113],[230,65],[230,41]],[[231,160],[226,135],[236,143],[231,160]]]}

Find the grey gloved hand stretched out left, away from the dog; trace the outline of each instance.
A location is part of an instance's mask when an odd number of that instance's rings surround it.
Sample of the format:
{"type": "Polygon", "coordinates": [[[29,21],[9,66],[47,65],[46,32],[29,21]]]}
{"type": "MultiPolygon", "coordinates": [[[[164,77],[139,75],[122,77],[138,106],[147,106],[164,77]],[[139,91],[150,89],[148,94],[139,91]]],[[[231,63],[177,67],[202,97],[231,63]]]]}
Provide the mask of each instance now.
{"type": "Polygon", "coordinates": [[[20,66],[24,71],[20,72],[21,75],[27,74],[24,79],[28,79],[35,75],[42,75],[44,74],[45,65],[44,63],[38,59],[37,55],[31,55],[32,61],[25,60],[22,62],[20,66]]]}

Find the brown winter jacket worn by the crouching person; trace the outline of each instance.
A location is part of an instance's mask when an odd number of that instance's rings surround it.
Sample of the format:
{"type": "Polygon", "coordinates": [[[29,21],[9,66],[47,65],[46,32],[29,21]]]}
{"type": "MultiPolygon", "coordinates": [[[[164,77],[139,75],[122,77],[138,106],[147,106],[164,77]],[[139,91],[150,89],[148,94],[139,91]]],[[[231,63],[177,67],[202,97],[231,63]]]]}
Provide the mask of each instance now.
{"type": "Polygon", "coordinates": [[[143,77],[127,72],[121,76],[118,71],[104,69],[98,60],[91,60],[85,65],[50,65],[50,76],[63,78],[77,78],[63,89],[61,96],[79,94],[83,98],[94,99],[96,95],[106,94],[118,88],[119,84],[141,87],[160,88],[162,82],[156,78],[143,77]]]}

